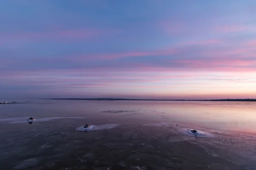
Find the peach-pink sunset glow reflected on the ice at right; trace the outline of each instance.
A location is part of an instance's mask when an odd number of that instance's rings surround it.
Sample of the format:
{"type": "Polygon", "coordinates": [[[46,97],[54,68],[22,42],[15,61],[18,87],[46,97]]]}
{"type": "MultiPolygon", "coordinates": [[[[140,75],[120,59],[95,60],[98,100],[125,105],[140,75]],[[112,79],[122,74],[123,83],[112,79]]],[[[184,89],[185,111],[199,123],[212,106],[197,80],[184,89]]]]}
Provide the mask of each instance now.
{"type": "Polygon", "coordinates": [[[251,129],[256,124],[256,103],[253,102],[173,102],[157,108],[178,122],[256,132],[251,129]]]}

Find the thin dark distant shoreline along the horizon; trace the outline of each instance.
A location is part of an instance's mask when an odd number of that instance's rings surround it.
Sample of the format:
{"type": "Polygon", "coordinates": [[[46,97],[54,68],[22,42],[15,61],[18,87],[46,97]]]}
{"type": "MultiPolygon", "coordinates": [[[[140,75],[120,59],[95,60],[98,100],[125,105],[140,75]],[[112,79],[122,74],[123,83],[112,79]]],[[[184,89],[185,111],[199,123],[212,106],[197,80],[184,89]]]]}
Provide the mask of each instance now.
{"type": "Polygon", "coordinates": [[[216,102],[256,102],[256,99],[209,99],[209,100],[186,100],[186,99],[112,99],[112,98],[55,98],[49,100],[106,100],[106,101],[113,101],[113,100],[133,100],[133,101],[216,101],[216,102]]]}

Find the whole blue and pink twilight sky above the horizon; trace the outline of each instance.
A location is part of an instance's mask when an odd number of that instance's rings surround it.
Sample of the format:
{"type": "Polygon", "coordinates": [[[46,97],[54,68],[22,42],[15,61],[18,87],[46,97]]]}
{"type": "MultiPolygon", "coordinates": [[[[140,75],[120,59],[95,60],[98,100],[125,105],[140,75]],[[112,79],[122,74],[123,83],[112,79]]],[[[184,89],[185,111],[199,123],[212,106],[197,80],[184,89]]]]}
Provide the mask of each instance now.
{"type": "Polygon", "coordinates": [[[256,98],[255,0],[0,0],[0,98],[256,98]]]}

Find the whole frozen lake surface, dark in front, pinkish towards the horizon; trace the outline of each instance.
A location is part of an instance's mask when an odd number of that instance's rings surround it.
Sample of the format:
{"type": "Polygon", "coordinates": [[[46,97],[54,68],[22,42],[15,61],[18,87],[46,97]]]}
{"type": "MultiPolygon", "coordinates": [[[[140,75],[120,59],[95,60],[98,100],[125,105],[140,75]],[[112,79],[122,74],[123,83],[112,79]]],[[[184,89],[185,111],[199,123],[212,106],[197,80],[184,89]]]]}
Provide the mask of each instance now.
{"type": "Polygon", "coordinates": [[[13,101],[0,105],[3,170],[256,167],[254,102],[13,101]]]}

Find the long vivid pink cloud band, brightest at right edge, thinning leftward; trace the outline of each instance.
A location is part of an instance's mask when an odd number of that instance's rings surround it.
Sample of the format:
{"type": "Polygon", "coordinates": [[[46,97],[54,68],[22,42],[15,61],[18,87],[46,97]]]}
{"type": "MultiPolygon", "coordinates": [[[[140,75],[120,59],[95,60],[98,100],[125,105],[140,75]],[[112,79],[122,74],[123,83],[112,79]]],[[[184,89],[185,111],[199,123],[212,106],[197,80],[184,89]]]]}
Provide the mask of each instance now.
{"type": "MultiPolygon", "coordinates": [[[[205,59],[170,59],[169,61],[162,62],[160,65],[154,65],[154,63],[134,63],[131,65],[120,65],[118,67],[96,67],[96,68],[84,68],[84,69],[68,69],[63,73],[67,72],[70,75],[70,71],[76,70],[76,74],[82,72],[94,72],[98,74],[106,75],[107,73],[184,73],[188,71],[235,71],[235,72],[254,72],[256,71],[256,59],[233,59],[232,57],[216,57],[216,58],[205,58],[205,59]],[[132,67],[131,67],[132,66],[132,67]],[[81,72],[80,72],[81,71],[81,72]]],[[[58,71],[58,69],[53,70],[58,71]]],[[[15,71],[12,71],[15,72],[15,71]]],[[[22,73],[25,73],[21,71],[22,73]]],[[[29,72],[29,71],[28,71],[29,72]]],[[[50,71],[44,74],[53,74],[50,71]],[[48,73],[47,73],[48,72],[48,73]]],[[[61,74],[61,70],[58,71],[61,74]]],[[[17,73],[17,72],[16,72],[17,73]]],[[[40,73],[39,73],[40,74],[40,73]]],[[[74,73],[75,74],[75,73],[74,73]]],[[[0,75],[0,77],[7,77],[8,74],[0,75]]]]}

